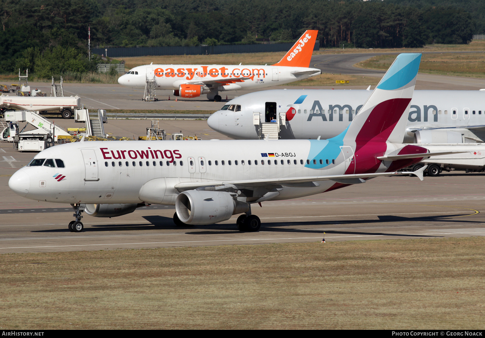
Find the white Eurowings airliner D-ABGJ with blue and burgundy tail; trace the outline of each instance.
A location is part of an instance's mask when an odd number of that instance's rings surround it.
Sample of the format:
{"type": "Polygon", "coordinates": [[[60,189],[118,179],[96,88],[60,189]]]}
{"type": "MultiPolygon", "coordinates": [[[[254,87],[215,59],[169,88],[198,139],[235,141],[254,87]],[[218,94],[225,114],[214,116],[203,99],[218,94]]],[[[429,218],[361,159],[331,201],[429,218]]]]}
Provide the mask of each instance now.
{"type": "MultiPolygon", "coordinates": [[[[420,54],[400,54],[350,126],[329,140],[81,141],[37,154],[9,180],[20,196],[69,203],[96,217],[133,212],[146,203],[175,205],[176,225],[208,225],[240,214],[257,231],[251,204],[364,183],[430,155],[404,145],[407,110],[420,54]]],[[[414,174],[422,180],[422,170],[414,174]]],[[[409,174],[409,173],[407,173],[409,174]]]]}

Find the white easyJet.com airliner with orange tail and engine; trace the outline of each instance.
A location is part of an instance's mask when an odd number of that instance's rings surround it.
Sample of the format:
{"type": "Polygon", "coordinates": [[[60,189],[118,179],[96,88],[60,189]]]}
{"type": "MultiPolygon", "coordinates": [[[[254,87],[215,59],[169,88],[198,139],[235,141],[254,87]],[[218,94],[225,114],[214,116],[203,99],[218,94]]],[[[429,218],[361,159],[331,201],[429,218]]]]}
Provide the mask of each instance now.
{"type": "Polygon", "coordinates": [[[118,83],[145,88],[147,80],[155,80],[155,89],[173,89],[175,96],[199,97],[220,102],[219,92],[238,89],[260,89],[307,79],[321,74],[309,68],[318,31],[306,31],[276,64],[147,64],[134,67],[118,79],[118,83]]]}

